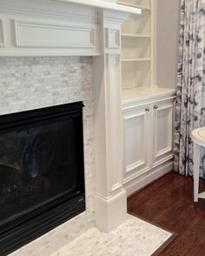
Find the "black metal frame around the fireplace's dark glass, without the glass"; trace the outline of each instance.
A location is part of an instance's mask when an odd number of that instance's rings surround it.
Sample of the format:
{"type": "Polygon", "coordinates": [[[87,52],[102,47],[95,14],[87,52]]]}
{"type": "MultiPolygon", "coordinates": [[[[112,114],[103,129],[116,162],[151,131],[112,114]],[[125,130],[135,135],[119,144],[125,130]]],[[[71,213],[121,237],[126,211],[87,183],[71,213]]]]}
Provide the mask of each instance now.
{"type": "Polygon", "coordinates": [[[63,195],[43,205],[35,212],[30,212],[26,216],[11,220],[5,226],[0,226],[1,256],[12,253],[19,247],[28,244],[30,241],[85,211],[83,106],[83,102],[76,102],[0,116],[0,132],[17,131],[19,125],[32,127],[34,122],[49,124],[50,120],[56,118],[58,120],[67,119],[68,117],[76,118],[76,129],[79,129],[76,141],[77,145],[79,145],[78,154],[80,155],[78,165],[83,174],[80,176],[81,189],[79,191],[69,194],[69,197],[68,195],[63,195]]]}

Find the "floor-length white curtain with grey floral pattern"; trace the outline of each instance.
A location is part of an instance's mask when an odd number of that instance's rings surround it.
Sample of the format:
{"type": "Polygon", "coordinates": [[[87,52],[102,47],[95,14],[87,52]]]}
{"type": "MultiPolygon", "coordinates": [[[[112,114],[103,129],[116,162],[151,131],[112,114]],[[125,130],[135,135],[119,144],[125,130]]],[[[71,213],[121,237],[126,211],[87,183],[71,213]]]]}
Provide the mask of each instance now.
{"type": "MultiPolygon", "coordinates": [[[[193,173],[190,133],[205,126],[205,0],[182,0],[175,104],[175,172],[193,173]]],[[[205,151],[200,168],[205,178],[205,151]]]]}

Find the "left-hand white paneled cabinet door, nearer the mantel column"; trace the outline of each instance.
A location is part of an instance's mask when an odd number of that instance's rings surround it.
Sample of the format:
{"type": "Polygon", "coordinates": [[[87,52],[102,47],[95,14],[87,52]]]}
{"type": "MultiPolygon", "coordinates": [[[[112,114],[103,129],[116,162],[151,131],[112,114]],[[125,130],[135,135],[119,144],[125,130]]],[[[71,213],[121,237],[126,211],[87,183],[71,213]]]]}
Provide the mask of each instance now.
{"type": "Polygon", "coordinates": [[[149,112],[145,107],[124,113],[125,172],[124,182],[149,170],[149,112]]]}

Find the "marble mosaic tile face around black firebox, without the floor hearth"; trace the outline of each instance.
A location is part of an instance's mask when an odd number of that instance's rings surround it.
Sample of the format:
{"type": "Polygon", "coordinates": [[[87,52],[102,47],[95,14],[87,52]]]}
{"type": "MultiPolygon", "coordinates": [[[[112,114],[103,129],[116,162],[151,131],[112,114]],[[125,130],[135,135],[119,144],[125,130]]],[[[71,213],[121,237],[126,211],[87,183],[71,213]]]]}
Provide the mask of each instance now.
{"type": "Polygon", "coordinates": [[[86,212],[12,256],[47,256],[94,226],[94,129],[91,57],[0,57],[0,114],[83,100],[86,212]]]}

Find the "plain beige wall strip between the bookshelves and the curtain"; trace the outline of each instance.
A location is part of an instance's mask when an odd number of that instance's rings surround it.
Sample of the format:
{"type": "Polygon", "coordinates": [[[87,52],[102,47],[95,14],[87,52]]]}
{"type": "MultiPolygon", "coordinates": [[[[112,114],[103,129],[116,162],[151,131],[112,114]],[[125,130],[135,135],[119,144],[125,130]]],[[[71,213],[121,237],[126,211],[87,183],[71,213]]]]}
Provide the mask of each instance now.
{"type": "Polygon", "coordinates": [[[180,0],[156,0],[155,84],[175,88],[180,0]]]}

